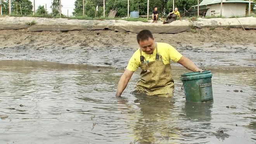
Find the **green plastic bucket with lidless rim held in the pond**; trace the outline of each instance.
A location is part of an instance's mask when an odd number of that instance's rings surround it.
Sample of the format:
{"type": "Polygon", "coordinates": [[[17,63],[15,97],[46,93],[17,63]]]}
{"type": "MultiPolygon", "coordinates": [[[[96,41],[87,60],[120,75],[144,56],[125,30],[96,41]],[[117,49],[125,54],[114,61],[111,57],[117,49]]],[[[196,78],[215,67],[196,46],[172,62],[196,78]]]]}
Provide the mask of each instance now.
{"type": "Polygon", "coordinates": [[[212,76],[210,70],[182,74],[180,79],[183,82],[186,101],[195,103],[213,101],[212,76]]]}

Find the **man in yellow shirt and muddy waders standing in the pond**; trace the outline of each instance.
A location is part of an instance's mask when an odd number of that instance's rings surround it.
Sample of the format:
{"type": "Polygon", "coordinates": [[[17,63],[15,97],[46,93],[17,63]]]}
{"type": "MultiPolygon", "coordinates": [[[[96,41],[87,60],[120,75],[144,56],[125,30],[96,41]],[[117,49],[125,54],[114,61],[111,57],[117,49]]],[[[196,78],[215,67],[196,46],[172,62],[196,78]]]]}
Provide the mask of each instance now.
{"type": "Polygon", "coordinates": [[[134,93],[163,97],[173,96],[174,83],[170,60],[180,63],[193,72],[203,71],[191,60],[182,56],[173,46],[155,42],[149,30],[140,31],[137,34],[137,42],[140,48],[133,53],[118,82],[116,97],[121,96],[131,76],[139,67],[142,72],[134,93]]]}

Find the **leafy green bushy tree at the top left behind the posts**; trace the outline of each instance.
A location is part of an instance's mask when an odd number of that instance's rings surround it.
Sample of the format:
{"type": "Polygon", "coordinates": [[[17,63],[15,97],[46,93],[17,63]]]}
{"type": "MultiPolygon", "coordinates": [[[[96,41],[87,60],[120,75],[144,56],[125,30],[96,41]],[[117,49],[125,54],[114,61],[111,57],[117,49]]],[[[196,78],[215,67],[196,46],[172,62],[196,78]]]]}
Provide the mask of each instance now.
{"type": "Polygon", "coordinates": [[[12,0],[11,7],[12,7],[12,14],[16,14],[16,12],[18,12],[18,14],[21,14],[21,11],[22,11],[22,15],[33,14],[33,11],[32,11],[33,5],[30,0],[12,0]]]}

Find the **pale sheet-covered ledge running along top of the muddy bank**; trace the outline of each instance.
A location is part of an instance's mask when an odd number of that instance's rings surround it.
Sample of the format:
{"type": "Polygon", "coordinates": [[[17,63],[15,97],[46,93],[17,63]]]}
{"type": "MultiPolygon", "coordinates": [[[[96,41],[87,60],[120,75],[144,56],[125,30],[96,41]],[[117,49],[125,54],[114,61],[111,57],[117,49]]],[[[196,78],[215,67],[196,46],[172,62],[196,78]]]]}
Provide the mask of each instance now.
{"type": "MultiPolygon", "coordinates": [[[[238,18],[246,29],[256,29],[256,17],[238,18]]],[[[103,30],[111,29],[119,32],[138,33],[141,29],[150,29],[152,33],[181,33],[190,31],[191,26],[206,27],[242,27],[235,18],[215,18],[189,21],[174,21],[170,24],[162,24],[161,21],[152,24],[149,22],[134,22],[124,20],[77,20],[77,19],[51,19],[40,17],[0,17],[0,29],[22,29],[27,28],[28,31],[73,31],[73,30],[103,30]],[[28,22],[35,21],[32,26],[26,25],[28,22]]]]}

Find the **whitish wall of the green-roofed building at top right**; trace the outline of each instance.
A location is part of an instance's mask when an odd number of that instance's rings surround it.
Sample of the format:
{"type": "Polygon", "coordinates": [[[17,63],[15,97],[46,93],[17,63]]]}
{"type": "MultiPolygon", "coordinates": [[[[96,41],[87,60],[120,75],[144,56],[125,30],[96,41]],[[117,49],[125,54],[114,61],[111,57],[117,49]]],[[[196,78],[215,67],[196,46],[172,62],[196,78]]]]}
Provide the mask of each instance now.
{"type": "MultiPolygon", "coordinates": [[[[207,8],[209,8],[209,13],[207,16],[211,16],[211,11],[215,11],[215,15],[220,15],[220,3],[213,4],[213,5],[207,5],[207,8]]],[[[245,16],[246,15],[246,3],[223,3],[222,8],[222,16],[224,17],[232,17],[233,14],[236,16],[245,16]]]]}

